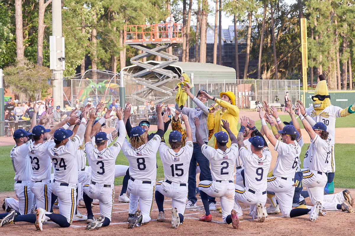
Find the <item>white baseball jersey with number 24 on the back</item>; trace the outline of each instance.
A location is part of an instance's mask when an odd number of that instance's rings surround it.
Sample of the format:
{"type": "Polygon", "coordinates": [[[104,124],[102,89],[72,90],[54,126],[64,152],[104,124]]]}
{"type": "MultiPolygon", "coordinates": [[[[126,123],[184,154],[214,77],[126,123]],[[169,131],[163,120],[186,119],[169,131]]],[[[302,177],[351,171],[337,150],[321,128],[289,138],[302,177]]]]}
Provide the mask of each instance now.
{"type": "Polygon", "coordinates": [[[54,179],[61,183],[77,184],[78,163],[76,152],[81,144],[81,139],[75,135],[69,139],[64,146],[50,146],[48,148],[49,157],[52,159],[54,168],[54,179]]]}

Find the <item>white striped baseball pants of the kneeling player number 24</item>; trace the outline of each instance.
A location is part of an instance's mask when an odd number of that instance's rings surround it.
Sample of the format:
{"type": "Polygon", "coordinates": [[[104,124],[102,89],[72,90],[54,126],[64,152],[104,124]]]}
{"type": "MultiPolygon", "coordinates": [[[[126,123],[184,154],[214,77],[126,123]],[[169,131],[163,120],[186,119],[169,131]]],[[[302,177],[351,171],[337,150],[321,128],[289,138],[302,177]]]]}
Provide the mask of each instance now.
{"type": "Polygon", "coordinates": [[[52,192],[58,196],[59,214],[63,215],[69,224],[72,223],[76,208],[76,184],[52,182],[52,192]]]}

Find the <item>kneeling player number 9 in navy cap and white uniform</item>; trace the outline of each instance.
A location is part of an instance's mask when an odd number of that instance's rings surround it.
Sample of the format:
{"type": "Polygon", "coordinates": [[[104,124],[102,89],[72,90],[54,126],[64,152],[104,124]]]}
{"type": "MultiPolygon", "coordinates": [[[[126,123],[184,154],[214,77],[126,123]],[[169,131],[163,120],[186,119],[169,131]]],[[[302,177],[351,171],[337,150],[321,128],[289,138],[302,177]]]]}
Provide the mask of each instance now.
{"type": "MultiPolygon", "coordinates": [[[[241,201],[250,205],[249,215],[252,219],[263,222],[266,218],[267,173],[271,163],[271,152],[262,136],[250,137],[251,152],[244,145],[244,130],[247,118],[242,117],[238,133],[239,157],[244,163],[245,188],[235,185],[235,202],[241,201]]],[[[239,205],[238,205],[239,206],[239,205]]],[[[240,207],[239,207],[240,208],[240,207]]],[[[241,211],[241,209],[239,209],[241,211]]]]}

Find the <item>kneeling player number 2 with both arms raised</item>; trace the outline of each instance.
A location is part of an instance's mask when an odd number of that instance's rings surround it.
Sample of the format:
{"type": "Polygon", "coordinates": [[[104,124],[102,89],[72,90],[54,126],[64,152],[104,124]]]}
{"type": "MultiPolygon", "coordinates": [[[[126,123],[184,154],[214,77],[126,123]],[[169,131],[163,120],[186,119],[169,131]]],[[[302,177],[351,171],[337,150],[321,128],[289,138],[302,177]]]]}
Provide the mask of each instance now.
{"type": "Polygon", "coordinates": [[[211,222],[212,216],[209,212],[208,198],[219,197],[222,207],[222,219],[226,224],[232,224],[233,228],[239,227],[239,219],[234,206],[234,183],[233,170],[238,157],[237,139],[229,129],[229,123],[222,119],[223,128],[228,132],[231,140],[231,146],[226,147],[228,143],[228,135],[224,131],[215,133],[217,141],[217,149],[204,143],[200,134],[200,119],[194,117],[196,126],[196,141],[200,145],[202,153],[211,163],[212,181],[203,180],[198,184],[201,200],[206,214],[200,218],[201,221],[211,222]]]}

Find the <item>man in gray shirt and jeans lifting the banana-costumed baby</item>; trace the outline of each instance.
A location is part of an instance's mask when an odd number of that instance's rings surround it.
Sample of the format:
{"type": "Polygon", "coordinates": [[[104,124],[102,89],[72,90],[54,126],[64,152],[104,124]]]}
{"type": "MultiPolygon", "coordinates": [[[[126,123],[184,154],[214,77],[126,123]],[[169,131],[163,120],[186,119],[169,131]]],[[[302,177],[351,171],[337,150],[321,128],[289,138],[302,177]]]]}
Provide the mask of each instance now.
{"type": "MultiPolygon", "coordinates": [[[[206,97],[204,97],[200,91],[197,93],[197,96],[193,96],[190,89],[184,86],[184,92],[189,95],[193,102],[197,105],[195,108],[183,107],[182,110],[175,103],[175,108],[178,111],[181,111],[182,114],[186,114],[189,117],[189,123],[195,124],[195,120],[193,117],[198,117],[200,119],[200,133],[203,141],[207,144],[208,143],[208,128],[207,128],[207,117],[208,117],[208,107],[204,105],[207,102],[206,97]]],[[[203,90],[207,92],[206,90],[203,90]]],[[[190,161],[190,168],[189,168],[189,180],[188,180],[188,199],[189,202],[186,204],[186,208],[196,208],[196,163],[200,166],[200,181],[202,180],[210,180],[212,181],[211,176],[211,169],[209,169],[209,161],[208,159],[202,154],[201,147],[196,142],[195,137],[195,125],[191,125],[192,131],[192,142],[193,142],[193,153],[192,158],[190,161]]],[[[209,202],[209,209],[216,210],[215,206],[215,198],[208,196],[209,202]]]]}

